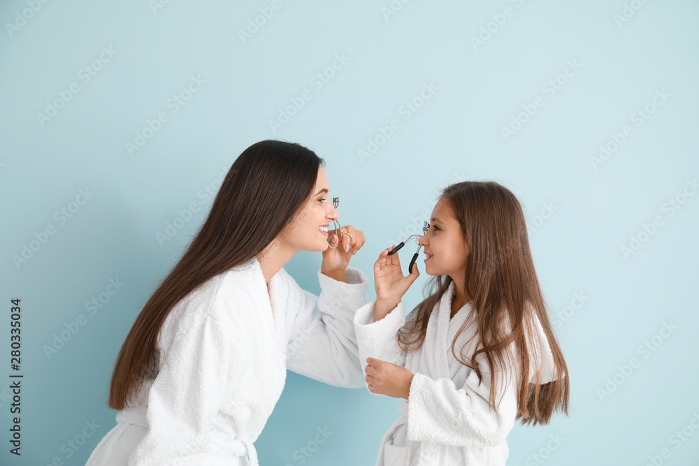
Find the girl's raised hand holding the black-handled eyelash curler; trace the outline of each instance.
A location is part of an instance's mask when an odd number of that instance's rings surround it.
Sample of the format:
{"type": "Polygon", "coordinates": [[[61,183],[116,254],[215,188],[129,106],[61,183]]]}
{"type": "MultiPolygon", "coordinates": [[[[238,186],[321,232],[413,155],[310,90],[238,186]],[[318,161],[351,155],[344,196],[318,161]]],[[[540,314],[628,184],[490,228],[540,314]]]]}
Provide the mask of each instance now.
{"type": "Polygon", "coordinates": [[[383,319],[391,312],[401,302],[405,291],[408,291],[410,285],[420,276],[415,263],[412,265],[410,274],[403,277],[398,254],[389,256],[389,251],[394,247],[396,245],[384,249],[374,263],[374,288],[376,289],[374,321],[383,319]]]}

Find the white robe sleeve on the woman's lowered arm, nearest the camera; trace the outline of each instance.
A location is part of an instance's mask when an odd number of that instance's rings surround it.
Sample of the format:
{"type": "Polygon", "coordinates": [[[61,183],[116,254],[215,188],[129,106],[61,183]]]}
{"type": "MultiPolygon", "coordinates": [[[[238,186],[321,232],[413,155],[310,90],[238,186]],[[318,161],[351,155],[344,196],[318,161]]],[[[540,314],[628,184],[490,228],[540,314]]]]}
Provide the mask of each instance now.
{"type": "Polygon", "coordinates": [[[149,428],[129,466],[164,464],[212,450],[210,435],[226,403],[230,374],[238,370],[240,349],[229,336],[230,326],[209,312],[175,325],[173,342],[150,387],[149,428]]]}

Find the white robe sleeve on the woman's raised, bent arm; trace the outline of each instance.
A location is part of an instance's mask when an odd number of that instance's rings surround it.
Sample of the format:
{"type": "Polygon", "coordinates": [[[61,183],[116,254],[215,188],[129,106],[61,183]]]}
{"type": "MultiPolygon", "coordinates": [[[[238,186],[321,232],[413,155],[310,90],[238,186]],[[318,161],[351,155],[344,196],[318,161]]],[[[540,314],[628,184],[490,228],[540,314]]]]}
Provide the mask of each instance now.
{"type": "Polygon", "coordinates": [[[318,272],[320,295],[301,289],[288,276],[287,315],[294,315],[288,332],[287,368],[325,384],[361,388],[359,361],[352,319],[368,300],[368,279],[361,270],[345,269],[349,283],[318,272]]]}

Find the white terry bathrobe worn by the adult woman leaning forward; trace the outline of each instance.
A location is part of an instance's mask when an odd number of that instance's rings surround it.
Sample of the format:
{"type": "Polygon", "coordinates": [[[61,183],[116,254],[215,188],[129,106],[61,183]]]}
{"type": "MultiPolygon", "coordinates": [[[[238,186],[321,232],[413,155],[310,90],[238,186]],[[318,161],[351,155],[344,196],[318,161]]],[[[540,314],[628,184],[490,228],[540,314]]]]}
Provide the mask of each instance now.
{"type": "Polygon", "coordinates": [[[269,294],[253,258],[208,280],[176,305],[159,337],[159,372],[87,466],[254,465],[253,442],[279,399],[286,370],[326,384],[364,385],[352,319],[368,279],[318,272],[320,296],[283,268],[269,294]]]}

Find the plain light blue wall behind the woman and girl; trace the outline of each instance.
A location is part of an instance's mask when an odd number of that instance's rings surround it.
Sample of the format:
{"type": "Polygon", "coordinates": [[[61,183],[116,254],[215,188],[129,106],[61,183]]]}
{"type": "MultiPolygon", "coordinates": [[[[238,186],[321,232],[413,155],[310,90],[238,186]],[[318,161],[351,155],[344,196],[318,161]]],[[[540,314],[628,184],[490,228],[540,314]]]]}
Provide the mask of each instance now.
{"type": "MultiPolygon", "coordinates": [[[[379,252],[421,225],[447,184],[496,180],[519,197],[552,320],[577,304],[575,293],[587,298],[556,325],[570,416],[516,425],[508,465],[540,464],[540,453],[549,465],[644,465],[662,449],[670,453],[663,464],[697,464],[699,432],[686,426],[699,422],[699,196],[679,196],[672,215],[666,203],[683,189],[696,194],[686,183],[699,175],[699,3],[411,1],[394,2],[402,8],[384,17],[388,0],[280,0],[245,43],[238,30],[270,1],[173,0],[155,10],[145,0],[37,1],[22,22],[29,3],[0,5],[0,347],[9,374],[9,301],[21,298],[24,373],[23,454],[8,453],[5,375],[0,463],[85,463],[115,425],[104,400],[117,351],[203,221],[206,187],[216,191],[245,147],[282,138],[328,162],[340,220],[367,238],[352,265],[369,277],[379,252]],[[498,17],[506,7],[512,14],[498,17]],[[625,8],[628,21],[618,23],[625,8]],[[493,32],[474,46],[482,27],[493,32]],[[103,46],[116,54],[85,83],[78,73],[103,46]],[[317,89],[312,77],[335,54],[349,61],[317,89]],[[568,61],[579,69],[559,76],[568,61]],[[206,83],[172,112],[168,99],[192,75],[206,83]],[[550,95],[543,86],[556,77],[565,84],[550,95]],[[73,82],[80,91],[42,125],[36,114],[73,82]],[[401,107],[424,83],[437,89],[404,119],[401,107]],[[304,89],[312,99],[273,131],[269,120],[304,89]],[[669,97],[637,126],[633,113],[662,89],[669,97]],[[543,105],[505,140],[501,128],[538,97],[543,105]],[[129,155],[125,144],[159,112],[168,121],[129,155]],[[358,151],[391,119],[400,128],[362,160],[358,151]],[[631,136],[595,168],[591,157],[625,125],[631,136]],[[86,188],[94,195],[62,224],[55,212],[86,188]],[[190,203],[199,212],[161,245],[157,233],[190,203]],[[640,234],[656,216],[661,226],[640,234]],[[55,234],[17,267],[13,256],[50,224],[55,234]],[[645,241],[625,257],[632,235],[645,241]],[[84,303],[110,278],[122,289],[48,358],[45,345],[86,314],[84,303]],[[640,345],[667,322],[677,330],[656,337],[661,344],[644,357],[640,345]],[[640,366],[626,377],[619,366],[631,358],[640,366]],[[598,389],[615,376],[624,380],[600,400],[598,389]],[[92,420],[99,428],[67,458],[62,445],[92,420]],[[683,428],[693,436],[672,442],[683,428]],[[562,443],[548,449],[556,435],[562,443]]],[[[404,267],[411,249],[401,253],[404,267]]],[[[298,254],[286,268],[317,293],[320,261],[298,254]]],[[[427,279],[418,264],[421,277],[405,297],[411,308],[427,279]]],[[[305,465],[373,465],[398,401],[289,373],[257,441],[261,465],[301,464],[294,452],[325,427],[333,435],[305,465]]]]}

